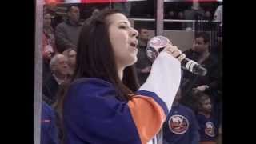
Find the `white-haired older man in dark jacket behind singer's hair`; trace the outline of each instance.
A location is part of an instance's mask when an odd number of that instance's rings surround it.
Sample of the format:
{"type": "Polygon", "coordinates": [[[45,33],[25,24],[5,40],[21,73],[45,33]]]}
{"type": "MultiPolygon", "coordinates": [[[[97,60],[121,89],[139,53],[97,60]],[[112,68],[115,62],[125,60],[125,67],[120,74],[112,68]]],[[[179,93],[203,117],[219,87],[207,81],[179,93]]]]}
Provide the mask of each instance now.
{"type": "Polygon", "coordinates": [[[68,59],[63,54],[55,54],[50,60],[50,77],[42,85],[42,94],[45,95],[43,100],[52,105],[56,102],[56,93],[58,86],[70,78],[70,67],[68,59]]]}

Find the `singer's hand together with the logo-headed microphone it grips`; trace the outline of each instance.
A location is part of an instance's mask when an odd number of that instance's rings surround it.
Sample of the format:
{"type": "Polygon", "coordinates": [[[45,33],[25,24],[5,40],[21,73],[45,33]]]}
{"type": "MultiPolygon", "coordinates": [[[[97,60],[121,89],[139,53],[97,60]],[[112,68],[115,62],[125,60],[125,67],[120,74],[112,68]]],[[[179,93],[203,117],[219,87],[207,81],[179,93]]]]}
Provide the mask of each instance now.
{"type": "Polygon", "coordinates": [[[151,62],[154,62],[154,59],[158,57],[162,50],[177,58],[181,62],[183,69],[189,70],[193,74],[206,75],[206,68],[199,65],[198,62],[186,58],[186,55],[182,54],[182,51],[178,50],[177,46],[172,46],[172,43],[166,37],[156,36],[151,38],[146,47],[146,55],[151,62]]]}

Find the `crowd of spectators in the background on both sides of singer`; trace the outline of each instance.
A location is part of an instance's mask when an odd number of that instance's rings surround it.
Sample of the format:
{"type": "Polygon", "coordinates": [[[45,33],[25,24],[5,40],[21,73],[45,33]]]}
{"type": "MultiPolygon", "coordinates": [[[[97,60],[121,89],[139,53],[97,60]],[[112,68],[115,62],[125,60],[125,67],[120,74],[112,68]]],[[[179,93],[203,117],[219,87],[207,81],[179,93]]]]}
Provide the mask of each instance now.
{"type": "MultiPolygon", "coordinates": [[[[74,74],[77,42],[82,25],[102,9],[92,7],[90,16],[81,18],[82,8],[66,6],[66,17],[57,13],[56,7],[45,6],[43,14],[43,79],[42,79],[42,144],[62,142],[61,128],[62,95],[65,83],[74,74]],[[50,121],[48,121],[50,120],[50,121]]],[[[219,9],[219,8],[218,8],[219,9]]],[[[88,10],[87,10],[88,11],[88,10]]],[[[222,18],[218,10],[202,10],[191,7],[190,10],[168,10],[165,19],[218,20],[222,18]],[[192,17],[193,15],[193,17],[192,17]]],[[[186,25],[168,23],[166,30],[186,30],[186,25]]],[[[136,70],[139,84],[146,81],[152,62],[146,56],[149,31],[146,27],[138,28],[138,62],[136,70]]],[[[218,40],[216,40],[218,41],[218,40]]],[[[215,143],[218,141],[222,125],[222,44],[211,46],[210,35],[196,33],[194,44],[184,53],[208,70],[206,76],[197,76],[182,70],[182,82],[174,100],[173,108],[162,128],[164,143],[215,143]]]]}

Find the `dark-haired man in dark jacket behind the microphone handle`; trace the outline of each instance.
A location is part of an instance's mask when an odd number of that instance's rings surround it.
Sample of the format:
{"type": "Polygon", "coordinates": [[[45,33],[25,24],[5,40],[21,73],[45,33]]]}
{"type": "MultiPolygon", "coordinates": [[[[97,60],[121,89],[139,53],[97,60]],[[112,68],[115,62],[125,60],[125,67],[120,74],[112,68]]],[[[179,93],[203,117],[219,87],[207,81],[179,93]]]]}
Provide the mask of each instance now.
{"type": "Polygon", "coordinates": [[[193,47],[184,52],[186,54],[186,58],[190,58],[195,62],[198,62],[207,69],[207,74],[205,76],[191,74],[186,70],[183,71],[182,103],[186,106],[190,106],[193,110],[195,109],[195,99],[191,94],[194,90],[206,92],[212,95],[213,102],[214,99],[217,98],[215,94],[219,83],[218,58],[213,54],[210,54],[209,49],[210,36],[205,32],[201,32],[196,34],[193,47]]]}

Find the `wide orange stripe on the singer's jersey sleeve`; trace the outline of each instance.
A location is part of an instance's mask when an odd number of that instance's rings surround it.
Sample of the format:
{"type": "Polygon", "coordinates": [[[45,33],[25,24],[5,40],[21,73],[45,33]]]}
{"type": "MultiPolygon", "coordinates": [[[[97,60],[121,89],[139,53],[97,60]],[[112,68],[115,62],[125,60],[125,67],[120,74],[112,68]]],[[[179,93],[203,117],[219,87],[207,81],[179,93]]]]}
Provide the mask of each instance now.
{"type": "Polygon", "coordinates": [[[129,102],[130,113],[142,144],[149,142],[162,127],[166,114],[153,98],[137,95],[129,102]]]}

